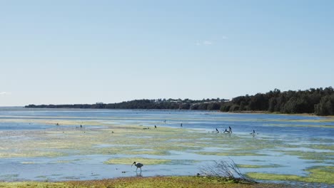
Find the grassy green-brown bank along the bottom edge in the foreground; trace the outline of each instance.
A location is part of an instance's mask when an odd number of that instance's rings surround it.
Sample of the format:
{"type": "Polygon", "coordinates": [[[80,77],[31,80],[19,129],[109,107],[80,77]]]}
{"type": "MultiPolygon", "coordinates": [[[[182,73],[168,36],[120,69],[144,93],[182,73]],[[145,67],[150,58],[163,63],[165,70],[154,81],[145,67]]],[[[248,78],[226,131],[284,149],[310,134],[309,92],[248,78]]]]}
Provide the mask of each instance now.
{"type": "Polygon", "coordinates": [[[233,181],[216,177],[125,177],[70,182],[0,182],[0,187],[288,187],[284,184],[236,184],[233,181]]]}

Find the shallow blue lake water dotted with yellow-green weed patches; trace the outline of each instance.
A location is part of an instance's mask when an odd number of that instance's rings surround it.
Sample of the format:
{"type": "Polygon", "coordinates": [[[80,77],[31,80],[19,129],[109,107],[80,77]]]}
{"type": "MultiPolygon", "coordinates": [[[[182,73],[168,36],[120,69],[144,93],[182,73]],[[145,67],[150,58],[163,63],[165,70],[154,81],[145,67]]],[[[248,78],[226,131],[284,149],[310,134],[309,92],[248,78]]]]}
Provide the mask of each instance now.
{"type": "Polygon", "coordinates": [[[0,180],[194,175],[215,160],[233,160],[243,173],[307,177],[333,167],[333,128],[333,118],[304,115],[0,108],[0,180]],[[228,127],[233,134],[223,133],[228,127]],[[143,162],[139,173],[132,159],[166,161],[143,162]]]}

